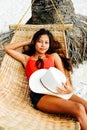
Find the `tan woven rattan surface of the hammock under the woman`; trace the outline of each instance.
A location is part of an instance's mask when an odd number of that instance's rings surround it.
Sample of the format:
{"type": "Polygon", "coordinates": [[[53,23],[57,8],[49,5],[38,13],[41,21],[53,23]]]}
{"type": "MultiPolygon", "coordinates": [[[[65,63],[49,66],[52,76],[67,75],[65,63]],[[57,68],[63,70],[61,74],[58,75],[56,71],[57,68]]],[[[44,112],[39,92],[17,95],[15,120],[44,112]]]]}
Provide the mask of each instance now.
{"type": "MultiPolygon", "coordinates": [[[[39,26],[42,27],[45,25],[39,26]]],[[[28,40],[39,29],[37,25],[26,28],[21,26],[11,43],[28,40]]],[[[46,28],[50,30],[51,25],[46,28]]],[[[64,32],[56,30],[56,25],[51,31],[66,53],[64,32]]],[[[0,126],[9,130],[80,130],[79,123],[73,118],[43,113],[32,107],[24,68],[7,54],[0,68],[0,126]]]]}

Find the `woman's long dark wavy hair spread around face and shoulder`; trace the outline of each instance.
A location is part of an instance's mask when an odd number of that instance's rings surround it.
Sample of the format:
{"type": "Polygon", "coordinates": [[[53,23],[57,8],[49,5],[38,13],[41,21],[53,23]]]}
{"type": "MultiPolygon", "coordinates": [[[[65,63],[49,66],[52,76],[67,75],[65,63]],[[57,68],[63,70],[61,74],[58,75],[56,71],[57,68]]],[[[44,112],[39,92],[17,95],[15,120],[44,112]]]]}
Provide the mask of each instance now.
{"type": "Polygon", "coordinates": [[[63,64],[64,64],[64,67],[69,70],[69,71],[72,71],[72,64],[71,64],[71,59],[70,58],[67,58],[64,54],[63,51],[60,51],[62,50],[62,45],[59,41],[56,41],[52,35],[52,33],[49,31],[49,30],[46,30],[46,29],[40,29],[39,31],[37,31],[32,40],[31,40],[31,44],[29,44],[26,47],[23,48],[23,53],[24,54],[27,54],[29,56],[32,56],[35,54],[36,50],[35,50],[35,44],[36,44],[36,41],[40,38],[41,35],[48,35],[49,37],[49,41],[50,41],[50,47],[48,49],[48,51],[46,52],[47,54],[52,54],[54,52],[58,53],[59,56],[61,57],[62,61],[63,61],[63,64]]]}

